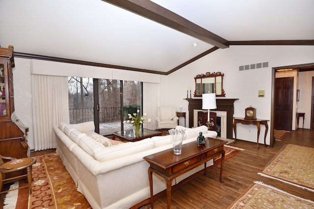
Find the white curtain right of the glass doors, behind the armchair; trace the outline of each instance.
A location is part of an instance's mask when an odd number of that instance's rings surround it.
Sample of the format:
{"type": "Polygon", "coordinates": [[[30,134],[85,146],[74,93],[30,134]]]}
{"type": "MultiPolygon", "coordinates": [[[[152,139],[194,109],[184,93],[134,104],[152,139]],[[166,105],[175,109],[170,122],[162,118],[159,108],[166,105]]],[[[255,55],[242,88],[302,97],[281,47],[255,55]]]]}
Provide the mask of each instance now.
{"type": "Polygon", "coordinates": [[[158,83],[143,82],[143,112],[147,113],[150,123],[144,123],[143,127],[151,130],[157,129],[157,107],[160,105],[160,93],[158,83]]]}

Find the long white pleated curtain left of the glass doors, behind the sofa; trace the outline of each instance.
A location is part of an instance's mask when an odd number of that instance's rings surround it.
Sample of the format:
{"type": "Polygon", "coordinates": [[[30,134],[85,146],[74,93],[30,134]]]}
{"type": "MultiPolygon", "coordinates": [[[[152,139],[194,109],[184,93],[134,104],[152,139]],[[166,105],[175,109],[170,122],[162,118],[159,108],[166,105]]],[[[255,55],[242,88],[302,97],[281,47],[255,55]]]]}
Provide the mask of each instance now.
{"type": "Polygon", "coordinates": [[[56,148],[52,127],[69,123],[68,77],[32,74],[31,81],[34,149],[56,148]]]}

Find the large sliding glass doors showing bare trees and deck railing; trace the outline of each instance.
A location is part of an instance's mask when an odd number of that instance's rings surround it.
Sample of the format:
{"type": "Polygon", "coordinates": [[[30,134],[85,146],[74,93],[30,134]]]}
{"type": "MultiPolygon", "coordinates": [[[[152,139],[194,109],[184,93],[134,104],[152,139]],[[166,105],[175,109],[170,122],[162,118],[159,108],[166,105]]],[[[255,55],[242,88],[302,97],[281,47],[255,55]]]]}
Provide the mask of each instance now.
{"type": "Polygon", "coordinates": [[[96,132],[107,136],[133,128],[123,120],[141,107],[141,82],[69,77],[71,124],[95,121],[96,132]]]}

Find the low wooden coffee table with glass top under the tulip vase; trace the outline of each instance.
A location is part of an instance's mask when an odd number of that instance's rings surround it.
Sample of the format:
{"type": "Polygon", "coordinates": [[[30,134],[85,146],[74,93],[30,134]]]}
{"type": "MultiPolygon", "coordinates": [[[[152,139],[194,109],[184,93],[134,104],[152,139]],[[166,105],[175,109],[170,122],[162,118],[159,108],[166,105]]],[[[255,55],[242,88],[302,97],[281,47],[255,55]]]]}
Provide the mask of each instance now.
{"type": "Polygon", "coordinates": [[[139,141],[155,136],[162,136],[162,132],[141,128],[141,132],[138,134],[135,133],[135,129],[118,131],[113,133],[114,138],[118,138],[122,141],[139,141]]]}

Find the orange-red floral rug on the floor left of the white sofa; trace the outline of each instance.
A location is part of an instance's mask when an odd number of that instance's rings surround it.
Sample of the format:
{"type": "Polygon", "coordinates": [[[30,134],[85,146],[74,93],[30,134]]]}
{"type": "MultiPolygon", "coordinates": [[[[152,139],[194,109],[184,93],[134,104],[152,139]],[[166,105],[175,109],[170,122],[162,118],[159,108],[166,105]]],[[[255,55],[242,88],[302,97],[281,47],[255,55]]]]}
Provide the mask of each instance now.
{"type": "Polygon", "coordinates": [[[33,195],[29,196],[28,209],[91,209],[58,154],[34,158],[37,163],[32,167],[33,195]]]}

